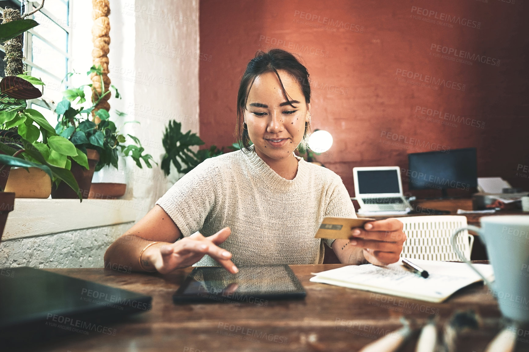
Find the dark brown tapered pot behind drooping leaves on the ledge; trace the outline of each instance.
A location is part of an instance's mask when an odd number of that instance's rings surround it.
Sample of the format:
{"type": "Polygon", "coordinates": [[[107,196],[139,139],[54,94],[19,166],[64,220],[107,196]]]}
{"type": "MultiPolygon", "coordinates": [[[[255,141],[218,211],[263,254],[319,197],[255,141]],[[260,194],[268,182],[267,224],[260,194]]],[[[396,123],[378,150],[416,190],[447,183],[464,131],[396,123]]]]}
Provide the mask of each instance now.
{"type": "MultiPolygon", "coordinates": [[[[94,149],[87,149],[88,166],[90,169],[86,170],[84,166],[79,165],[72,160],[70,171],[74,174],[77,184],[79,184],[79,190],[83,194],[83,199],[88,198],[90,192],[90,186],[92,186],[92,177],[96,170],[96,164],[99,161],[99,153],[94,149]]],[[[76,199],[77,194],[71,189],[66,182],[61,182],[59,187],[51,188],[51,198],[53,199],[76,199]]]]}

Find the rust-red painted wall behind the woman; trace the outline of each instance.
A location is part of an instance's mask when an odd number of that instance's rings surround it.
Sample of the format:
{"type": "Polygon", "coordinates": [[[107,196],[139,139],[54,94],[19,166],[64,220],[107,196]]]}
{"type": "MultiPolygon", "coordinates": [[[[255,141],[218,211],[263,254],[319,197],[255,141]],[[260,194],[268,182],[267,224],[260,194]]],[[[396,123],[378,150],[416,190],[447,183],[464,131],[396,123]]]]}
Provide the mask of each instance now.
{"type": "Polygon", "coordinates": [[[438,146],[475,146],[480,177],[529,190],[529,172],[517,173],[529,165],[529,11],[521,0],[484,1],[201,0],[205,147],[235,141],[245,66],[258,49],[280,47],[311,74],[313,128],[334,138],[318,159],[351,196],[354,166],[406,169],[408,153],[438,146]],[[435,110],[448,120],[428,116],[435,110]]]}

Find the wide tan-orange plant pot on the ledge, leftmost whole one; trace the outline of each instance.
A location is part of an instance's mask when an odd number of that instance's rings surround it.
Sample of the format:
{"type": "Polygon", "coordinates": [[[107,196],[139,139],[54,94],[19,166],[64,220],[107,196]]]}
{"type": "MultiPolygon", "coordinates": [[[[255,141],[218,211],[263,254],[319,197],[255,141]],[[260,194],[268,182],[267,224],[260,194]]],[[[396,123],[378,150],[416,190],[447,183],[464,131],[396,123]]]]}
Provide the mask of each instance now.
{"type": "Polygon", "coordinates": [[[15,192],[15,198],[48,198],[51,194],[51,179],[39,168],[12,169],[6,192],[15,192]]]}

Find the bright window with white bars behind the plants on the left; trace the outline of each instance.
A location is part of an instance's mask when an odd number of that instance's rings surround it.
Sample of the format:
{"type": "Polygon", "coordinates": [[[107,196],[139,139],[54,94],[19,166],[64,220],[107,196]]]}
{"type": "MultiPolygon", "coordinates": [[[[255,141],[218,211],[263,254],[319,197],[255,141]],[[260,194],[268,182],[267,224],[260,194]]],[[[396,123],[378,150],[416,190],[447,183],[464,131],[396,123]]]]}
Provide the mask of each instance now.
{"type": "MultiPolygon", "coordinates": [[[[28,13],[37,8],[40,1],[0,1],[0,10],[3,11],[5,7],[21,8],[21,5],[25,6],[23,12],[28,13]]],[[[69,0],[45,0],[44,7],[34,13],[31,18],[40,24],[24,34],[24,70],[31,71],[31,75],[40,78],[45,86],[42,98],[30,100],[28,107],[39,110],[48,122],[55,126],[57,117],[52,113],[52,109],[54,104],[62,100],[61,92],[67,89],[70,82],[67,77],[67,73],[71,71],[70,2],[69,0]]],[[[0,45],[0,51],[2,59],[0,75],[3,77],[5,73],[3,45],[0,45]]]]}

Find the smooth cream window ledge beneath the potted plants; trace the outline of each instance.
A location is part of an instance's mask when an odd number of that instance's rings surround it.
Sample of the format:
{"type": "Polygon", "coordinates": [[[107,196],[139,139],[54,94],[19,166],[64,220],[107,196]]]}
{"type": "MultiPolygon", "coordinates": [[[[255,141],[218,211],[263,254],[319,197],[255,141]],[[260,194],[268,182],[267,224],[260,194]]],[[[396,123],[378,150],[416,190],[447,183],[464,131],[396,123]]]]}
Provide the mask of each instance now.
{"type": "Polygon", "coordinates": [[[141,205],[126,199],[15,199],[2,242],[90,227],[130,223],[141,205]]]}

